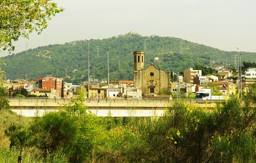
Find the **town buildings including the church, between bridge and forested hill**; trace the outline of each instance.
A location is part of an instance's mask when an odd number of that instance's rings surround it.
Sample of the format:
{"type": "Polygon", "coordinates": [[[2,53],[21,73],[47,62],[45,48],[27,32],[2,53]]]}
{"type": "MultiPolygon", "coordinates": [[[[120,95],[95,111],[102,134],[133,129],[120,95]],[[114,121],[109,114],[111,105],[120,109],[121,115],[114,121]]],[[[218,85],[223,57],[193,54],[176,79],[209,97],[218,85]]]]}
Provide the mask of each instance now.
{"type": "MultiPolygon", "coordinates": [[[[207,85],[215,84],[217,89],[223,94],[235,94],[235,88],[238,87],[237,80],[228,79],[232,76],[232,70],[218,70],[221,77],[214,75],[202,76],[202,70],[193,70],[188,68],[184,70],[184,76],[177,75],[179,82],[173,82],[170,72],[166,72],[154,66],[151,63],[147,68],[144,68],[144,52],[134,51],[134,71],[133,80],[115,80],[109,81],[108,86],[99,87],[100,83],[107,83],[107,81],[99,82],[98,79],[90,78],[90,98],[142,98],[157,97],[161,89],[169,89],[171,92],[197,92],[207,85]],[[98,91],[100,90],[100,93],[98,91]],[[108,92],[109,91],[109,92],[108,92]]],[[[250,68],[245,71],[243,86],[248,82],[256,81],[256,68],[250,68]]],[[[86,86],[88,81],[83,82],[82,86],[86,86]]],[[[6,80],[3,84],[6,94],[11,96],[13,93],[17,94],[22,88],[26,89],[29,94],[48,96],[50,98],[60,98],[61,92],[65,98],[75,97],[81,86],[73,85],[72,83],[64,82],[62,78],[46,76],[39,78],[37,82],[29,82],[24,79],[6,80]]]]}

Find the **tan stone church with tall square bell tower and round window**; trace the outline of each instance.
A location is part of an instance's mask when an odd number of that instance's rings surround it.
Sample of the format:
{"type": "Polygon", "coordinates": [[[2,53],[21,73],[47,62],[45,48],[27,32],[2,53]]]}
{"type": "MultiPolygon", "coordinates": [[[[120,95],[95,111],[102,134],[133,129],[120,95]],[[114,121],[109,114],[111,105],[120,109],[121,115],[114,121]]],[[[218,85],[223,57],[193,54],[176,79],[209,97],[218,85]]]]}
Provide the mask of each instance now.
{"type": "Polygon", "coordinates": [[[153,63],[144,69],[144,51],[134,51],[133,58],[134,87],[141,89],[142,94],[155,95],[160,93],[162,88],[170,89],[170,72],[155,67],[153,63]]]}

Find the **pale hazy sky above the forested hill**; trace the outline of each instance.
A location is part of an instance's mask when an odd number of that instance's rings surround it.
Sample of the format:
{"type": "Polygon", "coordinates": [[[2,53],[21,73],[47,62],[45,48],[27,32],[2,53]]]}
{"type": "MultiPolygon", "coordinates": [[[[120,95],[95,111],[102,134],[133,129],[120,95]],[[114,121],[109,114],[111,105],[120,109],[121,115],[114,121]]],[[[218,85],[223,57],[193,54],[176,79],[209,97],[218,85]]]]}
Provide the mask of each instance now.
{"type": "MultiPolygon", "coordinates": [[[[40,35],[19,38],[18,53],[49,44],[103,39],[131,30],[219,50],[256,52],[255,0],[53,0],[65,8],[40,35]]],[[[0,56],[9,55],[0,52],[0,56]]]]}

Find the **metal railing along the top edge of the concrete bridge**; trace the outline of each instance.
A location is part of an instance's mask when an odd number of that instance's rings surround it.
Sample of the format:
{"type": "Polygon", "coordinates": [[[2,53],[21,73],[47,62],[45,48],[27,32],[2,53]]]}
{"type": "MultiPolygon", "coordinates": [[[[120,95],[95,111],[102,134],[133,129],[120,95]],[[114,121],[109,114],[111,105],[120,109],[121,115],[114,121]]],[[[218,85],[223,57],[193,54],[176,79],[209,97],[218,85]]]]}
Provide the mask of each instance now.
{"type": "MultiPolygon", "coordinates": [[[[72,98],[48,98],[48,97],[5,97],[10,102],[27,103],[69,103],[72,98]]],[[[181,101],[186,104],[212,104],[222,100],[198,100],[198,99],[162,99],[162,98],[86,98],[85,103],[127,103],[127,104],[170,104],[181,101]]]]}

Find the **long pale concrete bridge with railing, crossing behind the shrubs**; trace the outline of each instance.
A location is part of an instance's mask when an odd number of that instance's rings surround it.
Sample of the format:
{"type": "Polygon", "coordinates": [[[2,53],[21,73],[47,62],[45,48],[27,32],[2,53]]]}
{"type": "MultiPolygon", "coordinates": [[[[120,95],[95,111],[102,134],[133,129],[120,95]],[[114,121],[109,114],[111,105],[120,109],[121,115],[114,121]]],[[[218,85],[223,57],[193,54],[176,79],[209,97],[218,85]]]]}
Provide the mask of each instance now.
{"type": "MultiPolygon", "coordinates": [[[[44,97],[6,97],[10,101],[11,110],[28,117],[42,116],[49,111],[63,109],[72,99],[44,97]]],[[[159,99],[159,98],[89,98],[84,104],[97,116],[161,116],[175,101],[186,104],[198,104],[203,108],[212,108],[216,101],[196,99],[159,99]]]]}

